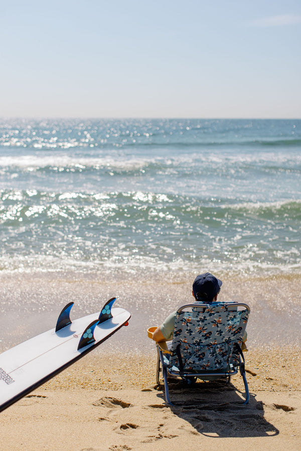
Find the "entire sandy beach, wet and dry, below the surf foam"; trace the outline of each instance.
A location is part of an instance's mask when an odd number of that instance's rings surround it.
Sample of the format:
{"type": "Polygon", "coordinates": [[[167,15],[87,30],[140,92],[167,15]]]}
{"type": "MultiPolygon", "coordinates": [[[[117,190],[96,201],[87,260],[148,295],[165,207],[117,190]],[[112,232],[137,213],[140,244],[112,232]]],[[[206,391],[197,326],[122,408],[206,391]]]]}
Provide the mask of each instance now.
{"type": "Polygon", "coordinates": [[[0,449],[300,449],[300,276],[223,274],[221,299],[243,299],[251,307],[245,355],[250,402],[241,404],[244,386],[236,375],[230,385],[174,384],[170,395],[178,406],[170,407],[163,386],[156,387],[156,347],[146,328],[186,299],[190,276],[153,281],[152,292],[150,278],[135,284],[130,277],[3,275],[1,351],[53,327],[65,301],[75,301],[76,318],[96,311],[114,289],[116,306],[132,317],[128,327],[1,412],[0,449]]]}

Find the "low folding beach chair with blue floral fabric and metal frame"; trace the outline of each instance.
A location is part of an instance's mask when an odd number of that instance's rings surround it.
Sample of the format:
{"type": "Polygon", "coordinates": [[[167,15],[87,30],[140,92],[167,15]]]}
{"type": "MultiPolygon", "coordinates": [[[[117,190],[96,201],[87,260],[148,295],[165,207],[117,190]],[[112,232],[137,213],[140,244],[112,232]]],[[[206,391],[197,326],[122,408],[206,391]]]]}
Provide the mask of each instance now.
{"type": "MultiPolygon", "coordinates": [[[[240,371],[245,386],[245,401],[249,389],[241,350],[250,308],[241,303],[194,303],[177,310],[173,341],[157,343],[156,381],[162,371],[166,401],[169,397],[168,376],[181,377],[191,383],[230,377],[240,371]]],[[[156,328],[148,329],[152,336],[156,328]]]]}

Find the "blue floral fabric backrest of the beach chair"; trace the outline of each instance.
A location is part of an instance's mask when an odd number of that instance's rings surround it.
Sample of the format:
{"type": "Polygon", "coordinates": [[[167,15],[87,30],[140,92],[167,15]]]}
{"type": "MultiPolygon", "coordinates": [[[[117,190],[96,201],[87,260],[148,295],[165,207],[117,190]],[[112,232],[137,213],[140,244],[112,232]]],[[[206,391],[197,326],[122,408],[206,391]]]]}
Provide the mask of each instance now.
{"type": "Polygon", "coordinates": [[[238,350],[249,307],[241,303],[186,304],[177,311],[169,367],[181,371],[229,371],[238,350]]]}

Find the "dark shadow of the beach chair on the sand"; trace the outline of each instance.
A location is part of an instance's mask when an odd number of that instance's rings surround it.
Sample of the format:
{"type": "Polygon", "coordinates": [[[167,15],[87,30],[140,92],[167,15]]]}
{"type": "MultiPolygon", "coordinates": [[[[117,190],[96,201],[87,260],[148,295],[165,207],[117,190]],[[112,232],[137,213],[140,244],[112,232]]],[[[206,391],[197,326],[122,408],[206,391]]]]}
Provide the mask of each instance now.
{"type": "MultiPolygon", "coordinates": [[[[279,433],[264,418],[262,402],[250,393],[249,403],[242,404],[243,396],[231,383],[198,381],[187,388],[182,381],[175,381],[169,386],[175,403],[170,406],[172,412],[189,422],[196,433],[210,437],[265,437],[279,433]]],[[[164,386],[157,388],[163,390],[164,386]]],[[[158,396],[164,398],[164,392],[158,396]]]]}

